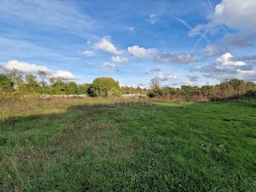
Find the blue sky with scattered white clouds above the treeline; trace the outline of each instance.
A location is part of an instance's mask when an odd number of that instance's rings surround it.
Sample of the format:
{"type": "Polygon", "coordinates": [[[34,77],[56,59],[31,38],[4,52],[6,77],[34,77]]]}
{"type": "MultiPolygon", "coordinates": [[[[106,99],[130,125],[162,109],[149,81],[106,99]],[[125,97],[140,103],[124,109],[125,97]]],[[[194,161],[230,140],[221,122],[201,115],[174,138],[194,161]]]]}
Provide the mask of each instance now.
{"type": "Polygon", "coordinates": [[[255,0],[0,0],[0,65],[78,84],[256,81],[255,0]]]}

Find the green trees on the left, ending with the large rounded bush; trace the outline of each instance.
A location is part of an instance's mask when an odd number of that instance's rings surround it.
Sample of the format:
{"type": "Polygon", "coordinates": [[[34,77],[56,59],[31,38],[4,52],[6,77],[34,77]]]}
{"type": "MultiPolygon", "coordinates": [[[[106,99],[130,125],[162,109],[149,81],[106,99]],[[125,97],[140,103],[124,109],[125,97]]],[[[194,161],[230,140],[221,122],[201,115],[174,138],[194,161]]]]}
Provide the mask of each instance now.
{"type": "Polygon", "coordinates": [[[78,85],[63,78],[48,78],[43,71],[24,74],[18,70],[0,73],[0,94],[88,94],[92,97],[119,97],[122,92],[113,78],[96,78],[92,84],[78,85]],[[47,83],[48,82],[48,83],[47,83]]]}

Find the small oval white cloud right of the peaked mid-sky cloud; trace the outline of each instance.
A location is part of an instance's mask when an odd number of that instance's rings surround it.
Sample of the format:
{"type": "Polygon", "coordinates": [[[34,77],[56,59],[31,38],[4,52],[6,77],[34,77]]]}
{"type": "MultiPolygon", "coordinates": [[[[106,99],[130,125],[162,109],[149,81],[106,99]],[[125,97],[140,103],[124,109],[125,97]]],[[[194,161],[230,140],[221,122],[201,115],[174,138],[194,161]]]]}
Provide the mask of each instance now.
{"type": "Polygon", "coordinates": [[[137,58],[150,58],[156,53],[156,49],[154,48],[145,49],[139,46],[129,46],[127,50],[130,54],[137,58]]]}

